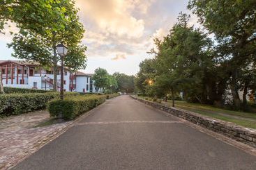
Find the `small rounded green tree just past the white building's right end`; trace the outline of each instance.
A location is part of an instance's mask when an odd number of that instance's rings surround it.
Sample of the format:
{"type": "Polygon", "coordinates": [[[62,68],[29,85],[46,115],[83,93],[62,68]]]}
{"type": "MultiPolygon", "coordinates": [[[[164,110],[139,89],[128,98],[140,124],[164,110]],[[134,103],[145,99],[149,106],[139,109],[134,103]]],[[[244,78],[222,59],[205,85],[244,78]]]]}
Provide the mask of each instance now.
{"type": "Polygon", "coordinates": [[[98,68],[94,71],[94,75],[92,79],[95,81],[94,85],[98,88],[102,88],[103,90],[107,87],[109,74],[106,69],[98,68]]]}

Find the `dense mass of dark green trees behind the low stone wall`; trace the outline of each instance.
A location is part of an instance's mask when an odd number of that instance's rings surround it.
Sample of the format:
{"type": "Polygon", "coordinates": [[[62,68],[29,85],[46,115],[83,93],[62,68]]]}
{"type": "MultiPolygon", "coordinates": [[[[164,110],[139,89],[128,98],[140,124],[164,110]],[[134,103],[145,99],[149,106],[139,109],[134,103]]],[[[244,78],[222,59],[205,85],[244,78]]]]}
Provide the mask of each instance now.
{"type": "Polygon", "coordinates": [[[183,92],[187,101],[246,109],[246,95],[255,90],[255,5],[191,0],[188,8],[204,27],[188,26],[190,17],[181,12],[170,33],[155,40],[154,58],[140,64],[137,89],[172,99],[183,92]]]}

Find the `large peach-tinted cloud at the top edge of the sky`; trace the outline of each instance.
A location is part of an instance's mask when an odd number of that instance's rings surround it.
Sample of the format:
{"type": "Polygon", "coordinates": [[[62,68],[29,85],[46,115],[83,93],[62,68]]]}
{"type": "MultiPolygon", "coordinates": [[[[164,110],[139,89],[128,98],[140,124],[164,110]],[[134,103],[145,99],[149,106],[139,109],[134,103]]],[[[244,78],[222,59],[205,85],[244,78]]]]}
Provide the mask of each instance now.
{"type": "MultiPolygon", "coordinates": [[[[77,0],[82,17],[98,26],[101,33],[128,38],[141,37],[144,20],[133,16],[136,3],[127,0],[77,0]]],[[[146,7],[142,6],[144,11],[146,7]]]]}

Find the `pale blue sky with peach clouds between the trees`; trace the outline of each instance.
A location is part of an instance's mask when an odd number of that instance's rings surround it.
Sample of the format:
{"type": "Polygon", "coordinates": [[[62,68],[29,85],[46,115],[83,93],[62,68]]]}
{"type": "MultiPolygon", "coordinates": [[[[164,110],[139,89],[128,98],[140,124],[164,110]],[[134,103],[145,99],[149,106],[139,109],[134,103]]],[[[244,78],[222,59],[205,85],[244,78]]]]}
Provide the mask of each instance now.
{"type": "MultiPolygon", "coordinates": [[[[80,8],[80,22],[86,32],[82,43],[87,46],[87,67],[93,73],[98,67],[110,74],[119,71],[135,75],[147,51],[154,47],[153,37],[167,35],[177,22],[179,12],[186,9],[188,0],[75,0],[80,8]]],[[[196,24],[192,15],[190,24],[196,24]]],[[[6,30],[15,27],[6,28],[6,30]]],[[[6,44],[11,35],[0,35],[0,60],[15,60],[6,44]]]]}

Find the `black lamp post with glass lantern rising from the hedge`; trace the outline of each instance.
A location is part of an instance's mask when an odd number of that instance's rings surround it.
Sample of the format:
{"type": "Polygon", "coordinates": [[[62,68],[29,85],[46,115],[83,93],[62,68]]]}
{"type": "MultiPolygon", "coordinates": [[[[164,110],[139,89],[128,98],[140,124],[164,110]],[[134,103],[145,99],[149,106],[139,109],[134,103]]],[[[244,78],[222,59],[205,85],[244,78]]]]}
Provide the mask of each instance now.
{"type": "Polygon", "coordinates": [[[63,42],[61,42],[60,44],[57,44],[56,49],[57,49],[57,52],[58,52],[59,56],[61,56],[61,92],[60,92],[59,98],[61,100],[63,100],[63,97],[64,97],[64,93],[63,93],[63,79],[64,79],[63,58],[67,55],[68,48],[63,44],[63,42]]]}

